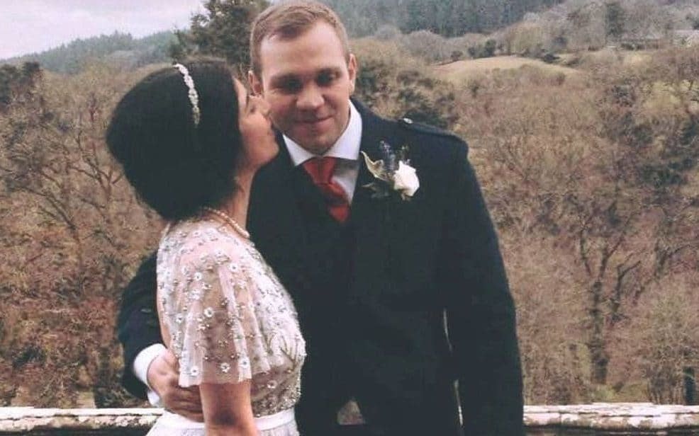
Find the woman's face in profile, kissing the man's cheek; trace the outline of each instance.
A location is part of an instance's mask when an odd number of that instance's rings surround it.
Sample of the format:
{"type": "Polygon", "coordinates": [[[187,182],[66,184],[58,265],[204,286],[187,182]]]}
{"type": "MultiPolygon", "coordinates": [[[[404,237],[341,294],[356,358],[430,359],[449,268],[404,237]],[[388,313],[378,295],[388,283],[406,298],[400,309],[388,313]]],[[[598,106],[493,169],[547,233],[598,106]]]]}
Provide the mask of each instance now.
{"type": "Polygon", "coordinates": [[[234,80],[244,161],[247,165],[259,167],[279,152],[269,120],[269,105],[260,97],[250,96],[245,86],[238,79],[234,80]]]}

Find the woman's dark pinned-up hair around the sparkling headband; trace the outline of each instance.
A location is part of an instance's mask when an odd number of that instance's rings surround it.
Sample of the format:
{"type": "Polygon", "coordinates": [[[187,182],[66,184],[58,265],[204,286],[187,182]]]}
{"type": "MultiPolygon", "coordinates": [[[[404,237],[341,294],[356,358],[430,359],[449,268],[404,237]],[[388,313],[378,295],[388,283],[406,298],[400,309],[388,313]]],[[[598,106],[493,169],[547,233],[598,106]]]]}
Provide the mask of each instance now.
{"type": "Polygon", "coordinates": [[[184,66],[198,94],[198,124],[183,74],[167,67],[123,96],[106,134],[138,195],[170,220],[217,207],[233,193],[241,148],[233,70],[218,59],[184,66]]]}

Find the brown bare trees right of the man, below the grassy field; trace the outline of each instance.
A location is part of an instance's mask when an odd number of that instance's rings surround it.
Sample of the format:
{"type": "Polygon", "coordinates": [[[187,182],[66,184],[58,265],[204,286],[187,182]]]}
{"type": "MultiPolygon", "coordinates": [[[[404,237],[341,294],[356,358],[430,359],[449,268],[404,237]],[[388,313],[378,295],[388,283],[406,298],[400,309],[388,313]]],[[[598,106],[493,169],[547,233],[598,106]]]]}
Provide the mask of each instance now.
{"type": "MultiPolygon", "coordinates": [[[[582,304],[574,343],[548,355],[558,371],[583,371],[590,386],[576,401],[626,398],[626,386],[640,379],[628,379],[620,365],[647,358],[615,353],[644,340],[629,330],[630,320],[650,322],[652,289],[675,292],[679,277],[692,277],[682,279],[688,290],[697,277],[698,63],[698,50],[685,49],[658,52],[646,67],[610,64],[566,80],[535,70],[496,73],[462,108],[505,256],[516,257],[519,246],[540,247],[532,268],[552,286],[551,302],[571,292],[556,286],[565,279],[578,297],[571,304],[582,304]]],[[[526,302],[531,282],[518,282],[522,271],[509,265],[515,296],[526,302]]],[[[543,321],[537,343],[549,335],[560,343],[557,323],[571,314],[566,304],[557,310],[543,321]]],[[[527,330],[520,337],[533,340],[527,330]]],[[[681,374],[697,363],[678,352],[672,370],[681,374]]],[[[542,370],[544,362],[537,365],[542,370]]],[[[549,384],[548,377],[527,381],[527,394],[549,384]]],[[[662,389],[678,383],[681,377],[662,389]]]]}

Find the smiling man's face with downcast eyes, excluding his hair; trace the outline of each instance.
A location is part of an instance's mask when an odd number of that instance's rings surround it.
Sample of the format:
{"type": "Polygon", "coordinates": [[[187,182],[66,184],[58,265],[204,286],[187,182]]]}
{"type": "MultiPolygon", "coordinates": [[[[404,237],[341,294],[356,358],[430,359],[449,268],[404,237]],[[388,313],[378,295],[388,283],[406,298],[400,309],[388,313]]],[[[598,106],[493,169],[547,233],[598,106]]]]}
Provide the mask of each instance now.
{"type": "Polygon", "coordinates": [[[313,154],[335,144],[349,121],[357,61],[319,21],[297,38],[265,38],[259,50],[261,76],[250,73],[253,91],[269,103],[274,125],[313,154]]]}

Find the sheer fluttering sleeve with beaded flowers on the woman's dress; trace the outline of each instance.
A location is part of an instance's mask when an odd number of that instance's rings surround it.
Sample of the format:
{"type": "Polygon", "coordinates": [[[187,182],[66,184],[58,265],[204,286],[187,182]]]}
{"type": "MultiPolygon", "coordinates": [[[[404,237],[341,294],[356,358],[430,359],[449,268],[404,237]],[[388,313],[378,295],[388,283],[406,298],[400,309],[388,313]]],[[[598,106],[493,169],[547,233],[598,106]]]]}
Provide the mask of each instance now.
{"type": "Polygon", "coordinates": [[[179,357],[179,384],[239,383],[269,370],[255,316],[250,271],[234,250],[204,244],[182,256],[171,299],[171,346],[179,357]],[[178,349],[179,348],[179,349],[178,349]],[[255,362],[255,367],[252,361],[255,362]]]}

